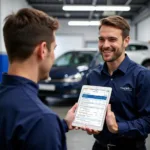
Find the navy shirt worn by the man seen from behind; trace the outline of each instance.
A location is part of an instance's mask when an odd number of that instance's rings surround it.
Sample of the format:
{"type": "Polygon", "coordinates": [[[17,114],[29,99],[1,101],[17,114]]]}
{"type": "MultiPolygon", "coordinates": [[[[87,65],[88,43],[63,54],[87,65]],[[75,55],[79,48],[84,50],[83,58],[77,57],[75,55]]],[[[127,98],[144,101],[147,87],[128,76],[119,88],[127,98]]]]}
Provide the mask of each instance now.
{"type": "Polygon", "coordinates": [[[0,85],[1,150],[66,150],[64,120],[37,96],[38,85],[3,74],[0,85]]]}

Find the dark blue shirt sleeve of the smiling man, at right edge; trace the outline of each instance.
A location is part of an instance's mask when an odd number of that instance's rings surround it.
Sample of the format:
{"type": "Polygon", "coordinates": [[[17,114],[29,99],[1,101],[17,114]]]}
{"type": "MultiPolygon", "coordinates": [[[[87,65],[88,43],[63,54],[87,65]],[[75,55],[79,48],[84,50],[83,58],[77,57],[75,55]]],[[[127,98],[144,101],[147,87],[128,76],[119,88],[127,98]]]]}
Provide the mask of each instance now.
{"type": "Polygon", "coordinates": [[[129,137],[147,136],[150,133],[150,71],[139,73],[136,87],[137,119],[119,122],[119,134],[129,137]]]}

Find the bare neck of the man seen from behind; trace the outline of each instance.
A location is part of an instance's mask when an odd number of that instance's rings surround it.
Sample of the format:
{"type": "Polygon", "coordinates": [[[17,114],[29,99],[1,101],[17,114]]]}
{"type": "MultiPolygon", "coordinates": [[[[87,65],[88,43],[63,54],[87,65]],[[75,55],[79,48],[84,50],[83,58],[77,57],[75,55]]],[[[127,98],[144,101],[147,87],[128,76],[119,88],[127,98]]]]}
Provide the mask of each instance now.
{"type": "Polygon", "coordinates": [[[9,65],[8,74],[21,76],[32,80],[35,83],[38,82],[37,68],[31,64],[12,63],[9,65]]]}

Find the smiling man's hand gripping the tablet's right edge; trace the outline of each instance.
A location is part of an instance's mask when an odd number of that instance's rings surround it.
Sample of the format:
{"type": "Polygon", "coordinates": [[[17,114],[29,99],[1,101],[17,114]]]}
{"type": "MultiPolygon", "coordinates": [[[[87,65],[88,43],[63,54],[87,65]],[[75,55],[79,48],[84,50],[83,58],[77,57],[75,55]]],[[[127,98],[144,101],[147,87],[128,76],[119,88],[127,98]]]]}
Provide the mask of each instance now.
{"type": "Polygon", "coordinates": [[[116,122],[116,117],[114,113],[111,111],[110,104],[107,107],[106,124],[107,124],[108,130],[111,133],[118,133],[118,124],[116,122]]]}

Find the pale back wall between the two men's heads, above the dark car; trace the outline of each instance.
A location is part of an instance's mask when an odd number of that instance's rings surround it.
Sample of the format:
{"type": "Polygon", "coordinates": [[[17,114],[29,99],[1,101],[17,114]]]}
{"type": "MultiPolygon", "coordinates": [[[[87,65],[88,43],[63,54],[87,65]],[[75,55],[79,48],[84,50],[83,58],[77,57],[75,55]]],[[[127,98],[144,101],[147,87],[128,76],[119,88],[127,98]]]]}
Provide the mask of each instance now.
{"type": "Polygon", "coordinates": [[[56,32],[56,58],[66,51],[85,47],[86,41],[98,40],[98,26],[68,26],[68,20],[59,20],[59,23],[60,28],[56,32]]]}

